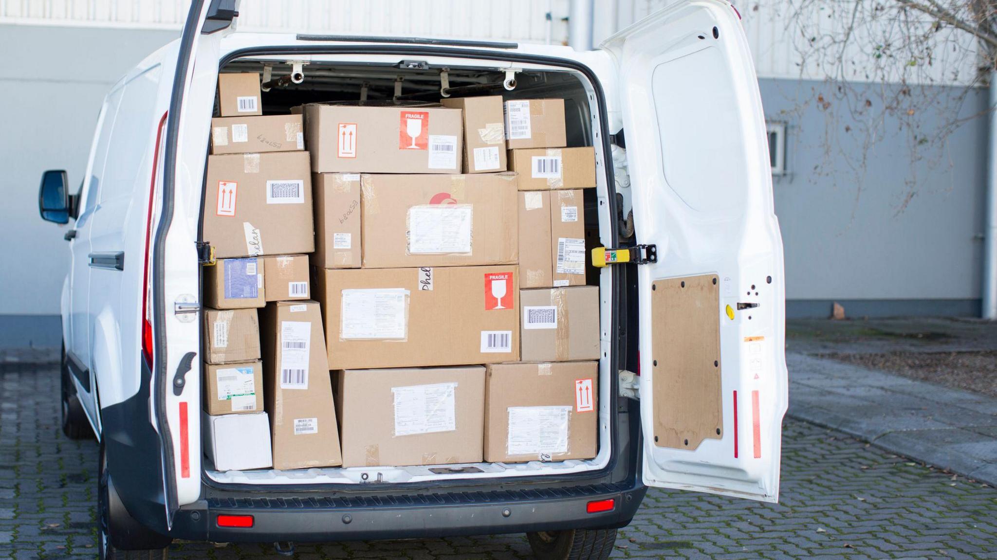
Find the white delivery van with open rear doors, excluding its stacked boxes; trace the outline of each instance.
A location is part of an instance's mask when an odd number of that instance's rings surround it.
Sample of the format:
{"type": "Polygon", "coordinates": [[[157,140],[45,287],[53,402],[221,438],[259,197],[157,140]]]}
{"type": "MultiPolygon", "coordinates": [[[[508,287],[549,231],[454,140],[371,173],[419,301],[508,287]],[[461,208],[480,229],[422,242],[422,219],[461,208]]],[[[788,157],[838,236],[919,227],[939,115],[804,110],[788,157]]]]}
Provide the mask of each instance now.
{"type": "Polygon", "coordinates": [[[161,557],[173,538],[509,532],[527,532],[539,558],[606,558],[647,486],[778,499],[783,247],[757,79],[729,3],[676,2],[592,52],[242,33],[237,15],[233,0],[194,0],[181,38],[108,94],[80,191],[65,171],[42,179],[42,217],[75,220],[63,428],[100,441],[101,558],[161,557]],[[303,75],[264,96],[264,112],[361,90],[439,99],[447,86],[565,101],[569,145],[594,146],[586,211],[609,261],[594,458],[213,470],[200,448],[200,216],[221,72],[303,75]]]}

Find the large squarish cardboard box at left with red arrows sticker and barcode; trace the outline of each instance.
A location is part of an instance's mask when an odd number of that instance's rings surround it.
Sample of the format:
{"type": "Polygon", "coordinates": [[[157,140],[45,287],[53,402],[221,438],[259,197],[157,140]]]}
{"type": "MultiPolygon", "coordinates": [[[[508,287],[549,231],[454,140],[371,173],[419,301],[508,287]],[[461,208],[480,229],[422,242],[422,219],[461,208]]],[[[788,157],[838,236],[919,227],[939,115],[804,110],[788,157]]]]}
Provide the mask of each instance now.
{"type": "Polygon", "coordinates": [[[218,258],[310,253],[307,151],[207,156],[203,238],[218,258]]]}

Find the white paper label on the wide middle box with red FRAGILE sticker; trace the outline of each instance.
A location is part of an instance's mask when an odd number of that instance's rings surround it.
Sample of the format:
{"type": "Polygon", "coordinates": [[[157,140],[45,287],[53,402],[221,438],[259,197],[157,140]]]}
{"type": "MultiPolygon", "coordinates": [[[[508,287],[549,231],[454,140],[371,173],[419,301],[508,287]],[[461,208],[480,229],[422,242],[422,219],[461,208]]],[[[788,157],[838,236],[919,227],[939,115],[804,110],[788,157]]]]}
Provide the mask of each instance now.
{"type": "Polygon", "coordinates": [[[409,290],[343,290],[339,337],[405,340],[409,290]]]}

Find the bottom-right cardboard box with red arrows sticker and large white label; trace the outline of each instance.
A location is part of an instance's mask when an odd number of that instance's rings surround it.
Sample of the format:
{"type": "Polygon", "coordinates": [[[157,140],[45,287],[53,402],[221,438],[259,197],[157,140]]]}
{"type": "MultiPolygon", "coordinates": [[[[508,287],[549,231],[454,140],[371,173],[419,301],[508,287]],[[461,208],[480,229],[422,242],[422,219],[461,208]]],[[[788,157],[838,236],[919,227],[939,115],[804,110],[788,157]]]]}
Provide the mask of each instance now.
{"type": "Polygon", "coordinates": [[[592,458],[599,449],[598,364],[493,364],[485,374],[485,460],[592,458]]]}

